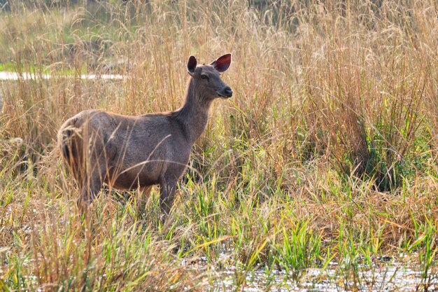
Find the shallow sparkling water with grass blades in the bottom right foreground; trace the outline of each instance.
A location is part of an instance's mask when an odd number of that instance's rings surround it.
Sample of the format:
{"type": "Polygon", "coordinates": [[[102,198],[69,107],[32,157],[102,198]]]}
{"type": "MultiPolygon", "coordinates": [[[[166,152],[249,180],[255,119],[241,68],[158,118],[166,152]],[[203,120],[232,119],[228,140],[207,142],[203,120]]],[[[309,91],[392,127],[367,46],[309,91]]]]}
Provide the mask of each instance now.
{"type": "MultiPolygon", "coordinates": [[[[389,257],[386,257],[389,258],[389,257]]],[[[206,268],[201,263],[198,268],[206,268]]],[[[325,270],[310,268],[294,280],[285,270],[265,271],[257,269],[244,274],[234,267],[211,270],[216,281],[209,291],[438,291],[438,271],[424,281],[419,267],[409,266],[396,260],[376,260],[371,266],[352,267],[330,263],[325,270]],[[237,284],[241,279],[241,284],[237,284]],[[244,280],[243,280],[244,279],[244,280]]]]}

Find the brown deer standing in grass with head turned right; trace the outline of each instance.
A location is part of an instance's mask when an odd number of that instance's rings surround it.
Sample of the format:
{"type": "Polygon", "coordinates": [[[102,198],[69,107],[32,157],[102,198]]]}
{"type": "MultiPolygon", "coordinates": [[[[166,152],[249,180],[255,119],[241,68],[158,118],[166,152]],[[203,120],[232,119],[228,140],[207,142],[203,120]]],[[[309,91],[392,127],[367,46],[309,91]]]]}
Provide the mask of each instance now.
{"type": "Polygon", "coordinates": [[[211,64],[197,64],[190,56],[185,102],[175,111],[125,116],[91,109],[66,120],[57,144],[78,185],[80,214],[106,183],[143,193],[160,186],[161,218],[169,215],[177,183],[192,146],[206,128],[213,100],[232,97],[232,89],[220,78],[231,56],[227,53],[211,64]]]}

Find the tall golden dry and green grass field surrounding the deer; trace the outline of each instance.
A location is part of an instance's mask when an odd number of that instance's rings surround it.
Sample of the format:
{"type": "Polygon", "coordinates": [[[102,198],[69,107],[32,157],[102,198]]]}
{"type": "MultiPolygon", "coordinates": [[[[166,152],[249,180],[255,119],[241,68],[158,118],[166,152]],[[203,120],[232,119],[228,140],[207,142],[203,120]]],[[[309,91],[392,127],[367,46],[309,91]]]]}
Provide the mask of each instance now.
{"type": "Polygon", "coordinates": [[[419,272],[409,289],[437,288],[435,1],[10,2],[0,291],[219,291],[225,277],[243,291],[261,270],[266,289],[402,288],[391,264],[419,272]],[[102,195],[81,220],[63,121],[177,109],[188,56],[227,52],[234,96],[213,105],[166,223],[156,191],[102,195]]]}

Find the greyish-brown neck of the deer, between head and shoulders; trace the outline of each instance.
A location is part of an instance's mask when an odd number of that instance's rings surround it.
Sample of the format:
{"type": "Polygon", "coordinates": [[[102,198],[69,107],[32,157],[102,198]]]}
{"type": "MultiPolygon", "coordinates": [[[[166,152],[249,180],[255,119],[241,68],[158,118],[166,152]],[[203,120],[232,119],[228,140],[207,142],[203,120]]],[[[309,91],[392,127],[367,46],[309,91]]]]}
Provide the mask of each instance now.
{"type": "Polygon", "coordinates": [[[212,99],[205,98],[204,92],[198,90],[193,78],[190,78],[186,90],[185,103],[176,111],[176,118],[183,125],[186,137],[191,144],[204,132],[209,120],[212,99]]]}

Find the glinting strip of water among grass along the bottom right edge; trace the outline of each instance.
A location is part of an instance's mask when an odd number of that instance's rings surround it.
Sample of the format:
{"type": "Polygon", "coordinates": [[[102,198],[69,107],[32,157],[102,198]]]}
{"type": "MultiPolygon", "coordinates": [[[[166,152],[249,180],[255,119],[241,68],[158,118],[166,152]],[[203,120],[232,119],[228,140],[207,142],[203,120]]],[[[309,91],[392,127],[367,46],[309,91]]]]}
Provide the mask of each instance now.
{"type": "MultiPolygon", "coordinates": [[[[215,282],[213,291],[235,291],[236,274],[233,270],[218,273],[219,280],[215,282]]],[[[293,281],[291,275],[284,271],[267,274],[264,270],[255,270],[245,277],[242,291],[416,291],[423,280],[421,272],[409,267],[389,265],[381,270],[362,270],[355,280],[346,276],[338,268],[326,270],[308,269],[304,277],[293,281]]],[[[429,291],[438,289],[438,279],[432,280],[429,291]]],[[[421,289],[420,289],[421,290],[421,289]]]]}

